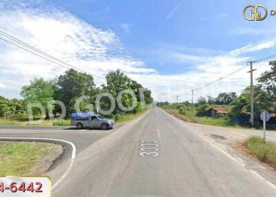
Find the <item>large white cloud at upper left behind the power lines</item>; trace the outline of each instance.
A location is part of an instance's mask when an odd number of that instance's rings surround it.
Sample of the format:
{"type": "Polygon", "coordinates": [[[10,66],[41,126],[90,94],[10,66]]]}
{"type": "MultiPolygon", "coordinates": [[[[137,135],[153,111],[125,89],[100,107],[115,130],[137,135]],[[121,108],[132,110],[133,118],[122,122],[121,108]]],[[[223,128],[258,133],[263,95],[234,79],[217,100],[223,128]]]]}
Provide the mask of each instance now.
{"type": "MultiPolygon", "coordinates": [[[[141,74],[156,72],[129,56],[112,30],[95,28],[42,1],[33,8],[32,4],[23,1],[1,1],[0,30],[97,76],[104,77],[107,72],[116,69],[141,74]]],[[[5,37],[1,35],[1,38],[5,37]]],[[[66,70],[1,40],[0,62],[0,76],[8,76],[19,82],[34,77],[53,79],[66,70]]],[[[104,83],[97,78],[95,81],[98,85],[104,83]]],[[[5,79],[5,83],[10,82],[5,79]]],[[[17,83],[18,92],[20,87],[21,83],[17,83]]]]}

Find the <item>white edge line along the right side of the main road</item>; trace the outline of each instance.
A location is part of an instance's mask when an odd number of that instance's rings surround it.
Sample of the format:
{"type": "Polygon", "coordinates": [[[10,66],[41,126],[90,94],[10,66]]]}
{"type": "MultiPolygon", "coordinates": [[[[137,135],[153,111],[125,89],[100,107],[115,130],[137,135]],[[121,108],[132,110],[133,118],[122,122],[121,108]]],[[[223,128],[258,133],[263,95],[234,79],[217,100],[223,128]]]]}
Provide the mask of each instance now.
{"type": "MultiPolygon", "coordinates": [[[[165,112],[165,114],[168,114],[165,112]]],[[[180,121],[179,119],[175,118],[174,116],[168,114],[168,116],[170,116],[171,118],[175,119],[175,121],[181,123],[182,125],[183,122],[180,121]]],[[[184,127],[186,127],[186,125],[184,125],[184,127]]],[[[187,128],[187,127],[186,127],[187,128]]],[[[188,129],[188,128],[187,128],[188,129]]],[[[231,156],[230,154],[228,154],[227,152],[225,152],[223,149],[219,148],[217,145],[215,145],[214,143],[212,143],[211,141],[208,141],[208,139],[204,138],[203,136],[200,136],[199,134],[197,134],[200,138],[202,138],[204,141],[208,142],[210,145],[212,145],[213,147],[215,147],[216,149],[218,149],[220,152],[222,152],[223,154],[225,154],[226,156],[228,156],[229,158],[231,158],[232,160],[235,160],[237,163],[239,163],[239,165],[242,165],[242,167],[244,167],[244,169],[247,169],[245,167],[245,165],[237,160],[236,158],[234,158],[233,156],[231,156]]],[[[274,189],[276,189],[276,186],[273,184],[273,183],[270,183],[268,180],[266,180],[266,178],[262,177],[261,175],[259,175],[257,172],[255,172],[254,170],[252,169],[247,169],[249,172],[255,174],[255,176],[259,177],[261,180],[263,180],[264,182],[268,183],[268,185],[270,185],[271,187],[273,187],[274,189]]]]}

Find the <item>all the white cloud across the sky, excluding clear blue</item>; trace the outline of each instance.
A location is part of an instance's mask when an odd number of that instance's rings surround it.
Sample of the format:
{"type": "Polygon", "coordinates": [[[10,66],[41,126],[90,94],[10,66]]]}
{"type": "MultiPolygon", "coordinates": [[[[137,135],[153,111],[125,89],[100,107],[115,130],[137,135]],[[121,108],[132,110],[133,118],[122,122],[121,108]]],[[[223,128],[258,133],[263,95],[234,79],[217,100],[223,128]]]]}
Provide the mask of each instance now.
{"type": "MultiPolygon", "coordinates": [[[[177,61],[184,66],[190,63],[193,65],[190,68],[193,69],[181,74],[159,74],[155,69],[148,68],[143,61],[129,56],[112,30],[95,28],[56,8],[44,5],[32,9],[24,3],[19,3],[19,6],[14,3],[17,1],[12,2],[0,3],[0,30],[97,76],[103,77],[110,70],[119,68],[152,90],[155,99],[163,101],[175,101],[177,94],[183,95],[181,100],[190,99],[192,88],[215,81],[241,68],[250,60],[250,56],[245,55],[274,48],[276,43],[275,39],[271,39],[230,52],[190,48],[174,50],[162,47],[162,51],[156,52],[155,57],[168,58],[168,61],[177,61]],[[160,95],[161,92],[168,94],[160,95]]],[[[174,12],[168,17],[172,17],[174,12]]],[[[18,97],[21,86],[34,77],[53,79],[66,70],[3,41],[0,41],[0,62],[0,87],[5,88],[0,90],[0,94],[9,98],[18,97]]],[[[267,69],[267,64],[258,65],[254,74],[259,76],[267,69]]],[[[235,84],[249,84],[247,71],[242,70],[224,81],[196,91],[195,99],[201,95],[216,96],[222,91],[237,91],[235,84]]],[[[97,78],[95,81],[97,85],[103,83],[97,78]]]]}

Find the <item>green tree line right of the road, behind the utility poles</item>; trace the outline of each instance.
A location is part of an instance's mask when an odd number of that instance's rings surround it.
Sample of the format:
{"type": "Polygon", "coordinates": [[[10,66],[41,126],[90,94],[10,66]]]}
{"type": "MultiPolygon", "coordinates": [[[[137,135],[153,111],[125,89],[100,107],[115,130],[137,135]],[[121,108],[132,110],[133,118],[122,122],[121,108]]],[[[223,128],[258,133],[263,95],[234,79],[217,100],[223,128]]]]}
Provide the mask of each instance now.
{"type": "MultiPolygon", "coordinates": [[[[276,113],[276,61],[270,61],[269,65],[271,66],[270,70],[262,73],[257,79],[257,84],[253,86],[254,117],[255,125],[257,126],[260,123],[259,114],[262,110],[268,110],[268,112],[273,114],[276,113]]],[[[239,96],[237,96],[236,92],[221,92],[215,98],[200,96],[195,104],[185,101],[179,104],[159,102],[157,105],[177,110],[181,107],[179,110],[181,114],[186,114],[188,110],[193,108],[197,116],[206,116],[211,107],[224,105],[229,112],[224,118],[228,118],[228,121],[233,121],[233,118],[250,116],[250,86],[245,87],[239,96]]],[[[274,121],[276,123],[276,120],[274,121]]]]}

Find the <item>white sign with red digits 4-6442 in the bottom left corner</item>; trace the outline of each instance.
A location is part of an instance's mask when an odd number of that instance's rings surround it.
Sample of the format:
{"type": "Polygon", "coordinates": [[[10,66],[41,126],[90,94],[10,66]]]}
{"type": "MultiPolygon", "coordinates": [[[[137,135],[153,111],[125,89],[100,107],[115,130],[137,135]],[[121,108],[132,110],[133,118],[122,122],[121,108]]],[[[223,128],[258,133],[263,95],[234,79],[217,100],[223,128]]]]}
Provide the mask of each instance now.
{"type": "Polygon", "coordinates": [[[50,197],[51,180],[43,177],[0,177],[0,196],[2,197],[50,197]]]}

